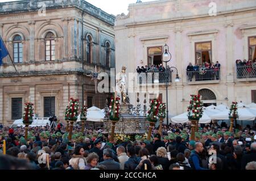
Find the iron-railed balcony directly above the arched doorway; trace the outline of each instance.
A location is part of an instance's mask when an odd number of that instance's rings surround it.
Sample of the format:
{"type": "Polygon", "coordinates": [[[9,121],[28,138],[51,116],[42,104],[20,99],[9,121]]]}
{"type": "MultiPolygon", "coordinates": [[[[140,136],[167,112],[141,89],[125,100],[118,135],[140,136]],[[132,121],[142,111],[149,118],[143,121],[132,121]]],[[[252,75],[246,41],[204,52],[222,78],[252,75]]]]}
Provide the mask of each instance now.
{"type": "Polygon", "coordinates": [[[188,84],[219,83],[220,69],[187,71],[188,84]]]}

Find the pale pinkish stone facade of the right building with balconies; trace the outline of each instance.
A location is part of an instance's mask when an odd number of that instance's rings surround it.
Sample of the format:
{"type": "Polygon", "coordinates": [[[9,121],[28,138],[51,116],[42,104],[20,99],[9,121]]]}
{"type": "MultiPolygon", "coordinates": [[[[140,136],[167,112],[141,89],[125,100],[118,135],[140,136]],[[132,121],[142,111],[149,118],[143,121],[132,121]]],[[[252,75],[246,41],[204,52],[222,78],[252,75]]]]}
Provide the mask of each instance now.
{"type": "MultiPolygon", "coordinates": [[[[129,14],[118,15],[115,21],[115,44],[117,72],[123,65],[127,72],[135,72],[137,66],[147,65],[147,48],[167,44],[172,54],[168,65],[175,66],[181,78],[168,86],[168,105],[171,115],[187,111],[190,94],[202,89],[214,93],[216,100],[205,103],[252,101],[256,90],[255,78],[238,79],[236,60],[248,60],[248,37],[256,36],[256,2],[253,0],[216,0],[216,15],[211,15],[212,1],[160,0],[129,5],[129,14]],[[220,62],[220,79],[215,81],[192,81],[187,79],[187,65],[195,60],[195,43],[210,41],[212,60],[220,62]],[[129,64],[127,64],[129,62],[129,64]]],[[[174,72],[176,74],[176,72],[174,72]]],[[[174,75],[174,74],[173,74],[174,75]]],[[[130,78],[129,79],[133,79],[130,78]]],[[[142,90],[148,91],[146,85],[142,90]]],[[[159,86],[166,102],[164,83],[159,86]]],[[[143,101],[144,94],[140,94],[143,101]]],[[[137,96],[130,93],[131,104],[137,96]]],[[[148,96],[148,94],[147,94],[148,96]]],[[[142,102],[141,101],[141,102],[142,102]]]]}

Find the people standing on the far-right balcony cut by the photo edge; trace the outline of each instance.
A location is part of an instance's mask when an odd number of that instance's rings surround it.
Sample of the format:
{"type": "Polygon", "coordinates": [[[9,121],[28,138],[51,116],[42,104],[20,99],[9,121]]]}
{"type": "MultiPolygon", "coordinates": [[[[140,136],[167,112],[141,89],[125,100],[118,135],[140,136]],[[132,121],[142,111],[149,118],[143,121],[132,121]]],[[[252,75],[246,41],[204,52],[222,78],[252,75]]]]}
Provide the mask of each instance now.
{"type": "Polygon", "coordinates": [[[237,78],[255,78],[256,77],[256,58],[254,60],[244,59],[236,60],[237,78]]]}

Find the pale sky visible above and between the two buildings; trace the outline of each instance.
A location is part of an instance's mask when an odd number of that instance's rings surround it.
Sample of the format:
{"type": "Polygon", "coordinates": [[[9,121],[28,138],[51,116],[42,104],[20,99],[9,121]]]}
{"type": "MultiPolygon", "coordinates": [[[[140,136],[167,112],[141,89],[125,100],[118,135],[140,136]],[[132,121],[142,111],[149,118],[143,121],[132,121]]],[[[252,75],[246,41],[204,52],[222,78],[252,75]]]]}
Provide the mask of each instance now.
{"type": "MultiPolygon", "coordinates": [[[[17,1],[17,0],[0,0],[0,2],[10,2],[10,1],[17,1]]],[[[118,15],[122,12],[127,14],[128,13],[128,6],[131,3],[136,3],[137,0],[86,0],[87,2],[91,3],[92,5],[108,12],[108,14],[118,15]]],[[[155,0],[141,0],[142,2],[149,2],[155,0]]]]}

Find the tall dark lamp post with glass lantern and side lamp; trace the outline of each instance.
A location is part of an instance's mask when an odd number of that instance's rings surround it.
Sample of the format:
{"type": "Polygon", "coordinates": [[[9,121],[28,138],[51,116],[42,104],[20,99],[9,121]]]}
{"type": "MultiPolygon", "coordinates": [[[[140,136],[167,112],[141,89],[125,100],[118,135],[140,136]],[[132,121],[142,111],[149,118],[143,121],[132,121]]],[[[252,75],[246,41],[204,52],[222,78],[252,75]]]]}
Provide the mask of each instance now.
{"type": "MultiPolygon", "coordinates": [[[[166,44],[164,45],[163,47],[164,49],[164,52],[163,52],[163,57],[166,58],[167,60],[163,60],[163,62],[166,63],[166,119],[167,119],[167,125],[169,125],[169,111],[168,111],[168,85],[169,85],[169,71],[170,70],[167,70],[167,62],[170,62],[171,61],[171,58],[172,58],[172,55],[169,51],[169,46],[166,44]],[[170,57],[170,58],[169,58],[170,57]],[[168,59],[169,58],[169,59],[168,59]]],[[[163,59],[164,59],[163,58],[163,59]]],[[[177,68],[175,68],[174,66],[171,66],[170,69],[176,69],[176,78],[175,78],[175,82],[180,82],[180,78],[179,78],[179,74],[178,74],[178,71],[177,71],[177,68]]]]}

